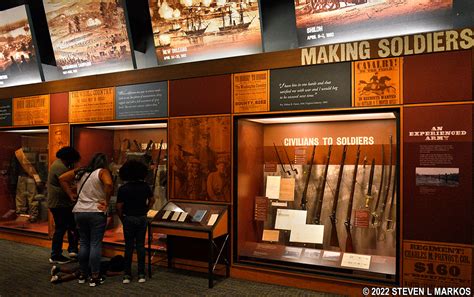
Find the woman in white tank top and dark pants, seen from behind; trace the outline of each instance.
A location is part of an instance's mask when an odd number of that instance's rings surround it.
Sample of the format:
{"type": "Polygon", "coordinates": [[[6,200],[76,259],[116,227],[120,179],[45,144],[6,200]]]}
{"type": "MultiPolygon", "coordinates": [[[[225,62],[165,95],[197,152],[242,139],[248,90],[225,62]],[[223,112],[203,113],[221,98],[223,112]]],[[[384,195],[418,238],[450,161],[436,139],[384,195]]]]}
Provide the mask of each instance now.
{"type": "Polygon", "coordinates": [[[107,168],[107,156],[97,153],[85,169],[71,170],[59,177],[61,187],[69,197],[73,200],[77,199],[72,212],[79,227],[80,236],[79,283],[85,283],[90,270],[89,286],[91,287],[104,281],[100,275],[100,259],[102,239],[107,224],[106,211],[113,191],[112,176],[107,168]],[[74,193],[73,184],[76,175],[79,175],[79,178],[77,193],[74,193]]]}

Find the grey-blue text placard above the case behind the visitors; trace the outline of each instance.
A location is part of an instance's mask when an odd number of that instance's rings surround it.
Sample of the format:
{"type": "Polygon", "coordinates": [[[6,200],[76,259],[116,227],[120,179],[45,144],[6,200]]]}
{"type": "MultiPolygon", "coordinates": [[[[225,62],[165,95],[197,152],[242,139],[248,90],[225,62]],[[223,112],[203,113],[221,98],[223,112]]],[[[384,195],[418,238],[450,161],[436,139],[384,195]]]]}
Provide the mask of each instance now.
{"type": "Polygon", "coordinates": [[[161,118],[168,115],[168,82],[115,88],[115,119],[161,118]]]}

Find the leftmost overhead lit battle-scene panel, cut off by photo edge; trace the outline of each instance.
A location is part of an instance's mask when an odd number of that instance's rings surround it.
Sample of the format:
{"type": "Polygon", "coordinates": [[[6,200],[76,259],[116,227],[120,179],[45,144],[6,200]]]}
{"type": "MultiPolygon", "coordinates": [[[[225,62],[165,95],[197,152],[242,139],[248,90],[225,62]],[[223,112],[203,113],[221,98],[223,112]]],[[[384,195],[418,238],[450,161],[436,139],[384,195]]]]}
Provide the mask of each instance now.
{"type": "Polygon", "coordinates": [[[0,11],[0,88],[41,82],[26,6],[0,11]]]}

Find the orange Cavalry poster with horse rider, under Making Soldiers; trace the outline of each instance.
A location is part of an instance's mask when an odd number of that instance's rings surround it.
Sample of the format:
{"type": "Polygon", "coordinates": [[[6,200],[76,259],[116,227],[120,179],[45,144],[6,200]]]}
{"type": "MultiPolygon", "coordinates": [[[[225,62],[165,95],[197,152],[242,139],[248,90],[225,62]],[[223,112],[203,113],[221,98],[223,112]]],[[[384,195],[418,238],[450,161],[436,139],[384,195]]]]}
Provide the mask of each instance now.
{"type": "Polygon", "coordinates": [[[400,104],[403,58],[357,61],[352,64],[354,106],[400,104]]]}

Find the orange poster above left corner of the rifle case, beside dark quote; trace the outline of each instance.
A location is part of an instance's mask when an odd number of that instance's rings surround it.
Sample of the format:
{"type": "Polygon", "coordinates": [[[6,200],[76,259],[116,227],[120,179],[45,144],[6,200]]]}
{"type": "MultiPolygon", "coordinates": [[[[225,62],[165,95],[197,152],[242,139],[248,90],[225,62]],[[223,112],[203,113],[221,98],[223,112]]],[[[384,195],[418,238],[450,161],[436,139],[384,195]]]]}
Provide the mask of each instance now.
{"type": "Polygon", "coordinates": [[[268,111],[268,71],[233,75],[234,113],[268,111]]]}

